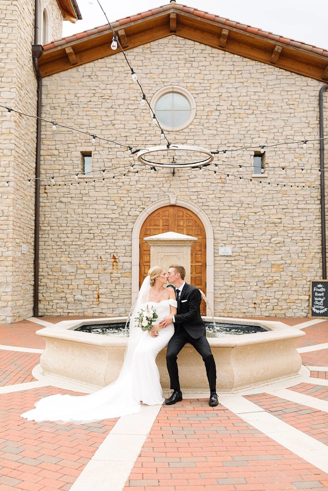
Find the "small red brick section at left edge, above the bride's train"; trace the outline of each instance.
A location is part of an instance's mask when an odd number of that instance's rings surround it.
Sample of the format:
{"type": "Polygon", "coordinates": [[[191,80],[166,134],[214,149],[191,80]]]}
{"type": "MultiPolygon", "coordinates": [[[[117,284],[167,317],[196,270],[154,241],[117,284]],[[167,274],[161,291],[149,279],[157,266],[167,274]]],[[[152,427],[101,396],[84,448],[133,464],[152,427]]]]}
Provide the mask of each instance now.
{"type": "Polygon", "coordinates": [[[39,359],[39,353],[0,350],[0,387],[34,381],[31,371],[39,359]]]}

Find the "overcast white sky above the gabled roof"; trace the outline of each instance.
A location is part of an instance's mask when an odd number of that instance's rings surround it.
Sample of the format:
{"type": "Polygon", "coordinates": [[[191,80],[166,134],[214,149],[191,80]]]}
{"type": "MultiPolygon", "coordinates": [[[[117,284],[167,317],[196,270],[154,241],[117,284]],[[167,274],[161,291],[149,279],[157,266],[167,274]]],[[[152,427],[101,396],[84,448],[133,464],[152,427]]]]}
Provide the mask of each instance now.
{"type": "MultiPolygon", "coordinates": [[[[77,0],[77,2],[83,20],[77,21],[76,24],[64,22],[63,36],[106,24],[104,14],[96,0],[77,0]]],[[[100,0],[100,2],[112,22],[170,3],[170,0],[100,0]]],[[[186,0],[180,3],[328,49],[327,0],[186,0]]]]}

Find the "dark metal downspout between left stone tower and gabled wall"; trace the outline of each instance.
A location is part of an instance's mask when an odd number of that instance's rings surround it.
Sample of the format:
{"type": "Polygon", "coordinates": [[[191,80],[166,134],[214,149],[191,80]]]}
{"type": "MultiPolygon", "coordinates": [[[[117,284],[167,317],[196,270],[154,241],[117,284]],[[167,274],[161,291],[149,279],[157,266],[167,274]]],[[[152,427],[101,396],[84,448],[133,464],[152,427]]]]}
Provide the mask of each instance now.
{"type": "MultiPolygon", "coordinates": [[[[41,117],[42,108],[42,78],[39,71],[38,59],[43,53],[42,45],[38,44],[39,36],[39,1],[34,2],[34,44],[32,45],[32,60],[37,80],[36,115],[41,117]]],[[[34,288],[33,316],[39,317],[39,226],[40,226],[40,149],[41,149],[41,120],[36,119],[36,152],[35,152],[35,204],[34,204],[34,288]]]]}

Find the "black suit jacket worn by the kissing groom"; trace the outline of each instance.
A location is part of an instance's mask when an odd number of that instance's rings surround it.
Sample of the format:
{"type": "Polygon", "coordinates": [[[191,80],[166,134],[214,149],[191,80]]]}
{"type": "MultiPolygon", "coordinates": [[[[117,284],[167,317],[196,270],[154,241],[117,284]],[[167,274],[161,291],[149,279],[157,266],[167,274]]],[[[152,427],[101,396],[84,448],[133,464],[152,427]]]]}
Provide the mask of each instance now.
{"type": "Polygon", "coordinates": [[[201,317],[201,292],[193,285],[185,283],[180,294],[178,313],[174,316],[175,332],[183,326],[194,339],[206,335],[205,324],[201,317]]]}

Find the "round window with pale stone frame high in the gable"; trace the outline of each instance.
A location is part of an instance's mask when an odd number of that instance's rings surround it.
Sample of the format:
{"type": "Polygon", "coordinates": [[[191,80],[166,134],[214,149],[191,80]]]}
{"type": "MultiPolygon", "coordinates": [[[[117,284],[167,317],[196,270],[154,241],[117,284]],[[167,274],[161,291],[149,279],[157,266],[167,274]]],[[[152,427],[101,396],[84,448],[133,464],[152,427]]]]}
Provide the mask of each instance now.
{"type": "Polygon", "coordinates": [[[161,89],[151,102],[164,130],[182,130],[191,123],[196,114],[194,98],[182,87],[161,89]]]}

